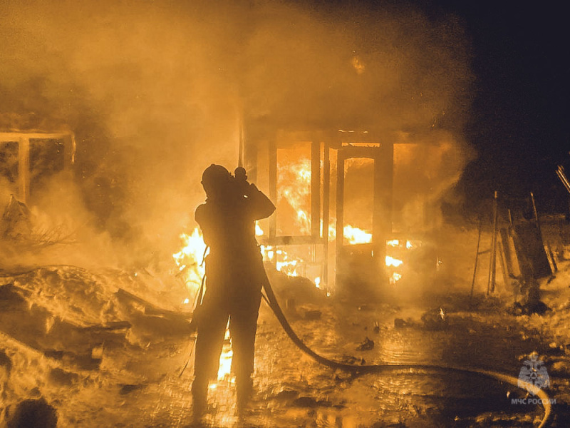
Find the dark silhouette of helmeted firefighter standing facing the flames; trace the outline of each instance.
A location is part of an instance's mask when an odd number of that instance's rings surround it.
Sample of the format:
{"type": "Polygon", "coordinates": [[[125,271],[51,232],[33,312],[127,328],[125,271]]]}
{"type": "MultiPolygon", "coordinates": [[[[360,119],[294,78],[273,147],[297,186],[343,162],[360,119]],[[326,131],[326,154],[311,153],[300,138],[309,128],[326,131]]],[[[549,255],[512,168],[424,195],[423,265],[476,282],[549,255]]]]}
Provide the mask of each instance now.
{"type": "Polygon", "coordinates": [[[195,212],[209,247],[204,298],[195,312],[195,415],[204,411],[209,381],[217,377],[228,320],[238,407],[247,403],[252,392],[255,334],[265,275],[255,221],[269,217],[275,205],[247,182],[243,168],[235,175],[221,165],[206,168],[202,186],[207,199],[195,212]]]}

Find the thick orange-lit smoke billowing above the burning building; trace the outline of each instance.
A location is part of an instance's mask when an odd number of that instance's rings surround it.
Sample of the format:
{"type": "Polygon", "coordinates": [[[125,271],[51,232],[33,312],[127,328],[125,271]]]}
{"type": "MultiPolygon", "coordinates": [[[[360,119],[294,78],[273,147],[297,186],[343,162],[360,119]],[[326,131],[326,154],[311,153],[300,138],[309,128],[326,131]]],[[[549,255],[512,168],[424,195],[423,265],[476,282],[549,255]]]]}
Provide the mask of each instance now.
{"type": "Polygon", "coordinates": [[[0,38],[0,125],[70,127],[82,213],[167,254],[203,199],[202,170],[237,165],[242,113],[289,129],[445,127],[462,158],[445,180],[465,163],[472,76],[453,16],[279,1],[2,1],[0,38]]]}

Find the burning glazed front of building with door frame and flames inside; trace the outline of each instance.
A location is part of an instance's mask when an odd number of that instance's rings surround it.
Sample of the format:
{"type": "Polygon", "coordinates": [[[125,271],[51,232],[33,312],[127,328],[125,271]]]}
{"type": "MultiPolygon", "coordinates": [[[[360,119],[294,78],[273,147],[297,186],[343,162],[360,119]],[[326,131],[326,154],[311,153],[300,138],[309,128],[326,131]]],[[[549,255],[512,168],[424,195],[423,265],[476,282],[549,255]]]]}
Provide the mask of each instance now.
{"type": "MultiPolygon", "coordinates": [[[[258,234],[266,260],[277,270],[309,277],[328,292],[364,299],[390,294],[389,286],[402,279],[403,259],[420,248],[438,215],[437,206],[421,195],[422,187],[433,183],[425,183],[425,170],[417,163],[427,160],[427,153],[451,156],[446,165],[430,165],[433,176],[461,161],[442,143],[425,147],[381,135],[248,134],[244,156],[250,177],[276,200],[276,215],[259,225],[258,234]],[[414,213],[406,213],[410,201],[420,204],[414,213]]],[[[427,257],[435,270],[435,254],[427,257]]],[[[426,260],[418,262],[429,277],[426,260]]]]}

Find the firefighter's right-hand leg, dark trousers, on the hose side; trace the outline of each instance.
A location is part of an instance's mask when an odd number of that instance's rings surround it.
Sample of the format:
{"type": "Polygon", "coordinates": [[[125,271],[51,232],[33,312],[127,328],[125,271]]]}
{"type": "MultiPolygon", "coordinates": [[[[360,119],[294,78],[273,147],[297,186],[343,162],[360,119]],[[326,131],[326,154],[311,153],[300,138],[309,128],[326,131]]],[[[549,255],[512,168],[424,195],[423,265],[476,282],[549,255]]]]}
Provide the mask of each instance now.
{"type": "Polygon", "coordinates": [[[259,298],[252,297],[237,307],[229,318],[229,333],[232,336],[232,370],[236,375],[236,393],[239,405],[247,403],[252,393],[254,372],[255,333],[259,313],[259,298]]]}

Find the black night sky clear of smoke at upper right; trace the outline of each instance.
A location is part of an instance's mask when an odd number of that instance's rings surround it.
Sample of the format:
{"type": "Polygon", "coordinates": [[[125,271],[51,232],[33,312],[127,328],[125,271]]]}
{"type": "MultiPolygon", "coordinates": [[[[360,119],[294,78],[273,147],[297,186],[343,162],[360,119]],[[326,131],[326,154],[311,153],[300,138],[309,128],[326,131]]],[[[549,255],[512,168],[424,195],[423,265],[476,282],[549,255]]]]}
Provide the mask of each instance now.
{"type": "Polygon", "coordinates": [[[554,170],[570,168],[568,26],[561,6],[509,1],[420,2],[430,16],[450,11],[472,38],[475,94],[467,139],[478,158],[460,188],[477,203],[533,191],[543,211],[563,210],[554,170]],[[541,8],[541,9],[539,9],[541,8]]]}

